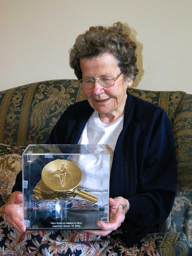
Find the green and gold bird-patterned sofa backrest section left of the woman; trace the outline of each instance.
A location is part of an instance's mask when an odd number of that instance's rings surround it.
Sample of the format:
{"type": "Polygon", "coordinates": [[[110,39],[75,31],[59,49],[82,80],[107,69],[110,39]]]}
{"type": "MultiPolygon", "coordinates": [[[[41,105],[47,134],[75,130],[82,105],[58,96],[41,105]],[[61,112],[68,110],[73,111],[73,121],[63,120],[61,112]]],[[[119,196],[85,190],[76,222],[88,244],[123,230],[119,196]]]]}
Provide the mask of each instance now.
{"type": "Polygon", "coordinates": [[[77,80],[52,80],[0,93],[0,142],[42,144],[66,108],[84,99],[77,80]]]}

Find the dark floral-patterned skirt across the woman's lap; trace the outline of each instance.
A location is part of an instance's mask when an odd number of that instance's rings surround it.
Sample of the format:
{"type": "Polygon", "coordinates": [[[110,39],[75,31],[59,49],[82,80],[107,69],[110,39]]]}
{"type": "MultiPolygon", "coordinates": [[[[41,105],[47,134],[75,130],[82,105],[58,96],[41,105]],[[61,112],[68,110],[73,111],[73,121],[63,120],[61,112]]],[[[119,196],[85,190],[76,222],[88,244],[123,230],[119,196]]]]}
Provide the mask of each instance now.
{"type": "Polygon", "coordinates": [[[128,248],[121,239],[114,238],[113,234],[104,237],[79,230],[19,233],[5,220],[3,211],[4,206],[0,208],[0,255],[159,256],[150,235],[134,247],[128,248]]]}

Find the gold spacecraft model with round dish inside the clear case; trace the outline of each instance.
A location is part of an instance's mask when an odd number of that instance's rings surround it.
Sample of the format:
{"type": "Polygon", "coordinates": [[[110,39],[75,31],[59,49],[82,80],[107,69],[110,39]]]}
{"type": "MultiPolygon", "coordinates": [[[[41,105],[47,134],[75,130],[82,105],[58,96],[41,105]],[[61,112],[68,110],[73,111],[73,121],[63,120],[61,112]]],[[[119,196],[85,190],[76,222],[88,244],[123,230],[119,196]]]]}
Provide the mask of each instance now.
{"type": "Polygon", "coordinates": [[[69,161],[56,159],[46,164],[41,173],[41,179],[33,189],[33,199],[55,199],[66,197],[80,198],[92,203],[96,203],[98,197],[87,191],[79,190],[82,173],[79,167],[69,161]]]}

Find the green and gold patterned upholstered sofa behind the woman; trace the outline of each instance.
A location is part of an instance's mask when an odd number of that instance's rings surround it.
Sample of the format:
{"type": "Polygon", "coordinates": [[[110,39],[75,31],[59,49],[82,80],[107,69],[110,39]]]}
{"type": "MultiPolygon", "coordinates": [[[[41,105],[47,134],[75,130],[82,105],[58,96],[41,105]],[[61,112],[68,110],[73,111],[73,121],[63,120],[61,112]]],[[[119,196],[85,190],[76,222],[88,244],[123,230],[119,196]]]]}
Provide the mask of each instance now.
{"type": "MultiPolygon", "coordinates": [[[[159,232],[151,235],[161,256],[192,255],[192,95],[182,91],[128,91],[163,108],[175,134],[177,196],[170,216],[160,224],[159,232]]],[[[84,94],[77,80],[37,82],[0,92],[1,205],[9,198],[22,168],[25,147],[45,143],[65,109],[82,100],[84,94]]],[[[0,241],[3,228],[1,223],[0,241]]]]}

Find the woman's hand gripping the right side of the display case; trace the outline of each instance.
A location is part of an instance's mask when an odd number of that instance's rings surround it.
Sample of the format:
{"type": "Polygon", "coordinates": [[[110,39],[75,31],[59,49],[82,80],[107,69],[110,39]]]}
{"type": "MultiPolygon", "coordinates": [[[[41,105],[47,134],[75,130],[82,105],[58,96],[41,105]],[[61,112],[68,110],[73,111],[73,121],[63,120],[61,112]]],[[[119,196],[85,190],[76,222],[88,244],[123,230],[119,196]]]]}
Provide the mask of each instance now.
{"type": "Polygon", "coordinates": [[[102,230],[87,230],[87,232],[98,236],[107,236],[121,226],[128,209],[129,201],[127,199],[123,197],[109,198],[109,222],[97,221],[97,226],[102,230]]]}

